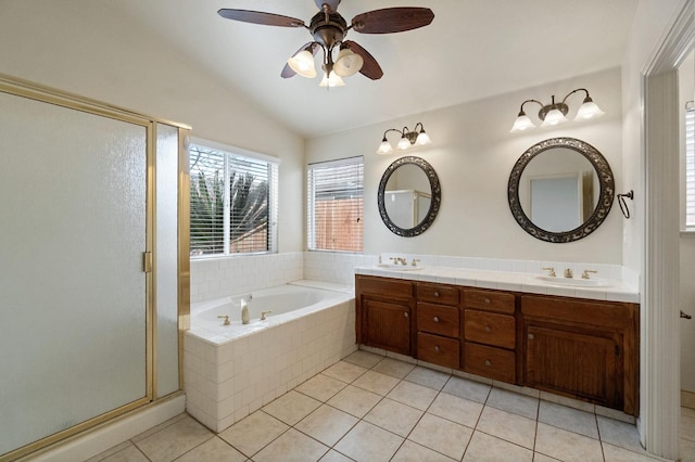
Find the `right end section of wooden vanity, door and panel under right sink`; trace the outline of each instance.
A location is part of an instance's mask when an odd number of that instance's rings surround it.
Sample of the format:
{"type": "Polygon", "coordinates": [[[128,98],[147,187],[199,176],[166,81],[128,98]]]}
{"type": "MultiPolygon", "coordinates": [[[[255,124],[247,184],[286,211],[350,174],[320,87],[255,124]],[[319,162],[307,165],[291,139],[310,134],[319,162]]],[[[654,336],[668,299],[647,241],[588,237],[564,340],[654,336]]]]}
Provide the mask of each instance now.
{"type": "Polygon", "coordinates": [[[636,307],[522,295],[525,385],[636,415],[636,307]]]}

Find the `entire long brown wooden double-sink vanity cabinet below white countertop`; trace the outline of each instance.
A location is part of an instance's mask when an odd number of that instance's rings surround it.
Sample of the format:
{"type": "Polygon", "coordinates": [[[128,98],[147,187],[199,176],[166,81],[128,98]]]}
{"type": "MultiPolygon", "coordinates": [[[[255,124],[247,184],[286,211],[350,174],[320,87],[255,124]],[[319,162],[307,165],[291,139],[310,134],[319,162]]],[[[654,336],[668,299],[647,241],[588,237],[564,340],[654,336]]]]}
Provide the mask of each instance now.
{"type": "Polygon", "coordinates": [[[355,277],[357,343],[639,414],[639,306],[355,277]]]}

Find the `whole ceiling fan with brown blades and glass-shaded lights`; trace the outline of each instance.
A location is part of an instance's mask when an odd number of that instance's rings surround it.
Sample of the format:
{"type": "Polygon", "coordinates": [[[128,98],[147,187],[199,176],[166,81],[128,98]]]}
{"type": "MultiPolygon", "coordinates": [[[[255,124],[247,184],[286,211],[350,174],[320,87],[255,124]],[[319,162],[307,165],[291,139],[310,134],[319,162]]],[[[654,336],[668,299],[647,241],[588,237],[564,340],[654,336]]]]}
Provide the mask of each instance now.
{"type": "Polygon", "coordinates": [[[343,16],[337,12],[340,0],[314,0],[319,12],[312,17],[309,25],[295,17],[282,16],[261,11],[222,9],[217,13],[227,20],[244,23],[263,24],[280,27],[304,27],[308,29],[314,40],[300,48],[287,62],[282,73],[283,78],[299,74],[303,77],[316,77],[314,56],[318,50],[324,51],[324,79],[321,87],[342,86],[341,77],[356,73],[372,80],[383,76],[381,66],[371,54],[352,40],[345,40],[350,29],[361,34],[392,34],[417,29],[429,25],[434,13],[429,8],[396,7],[369,11],[356,15],[348,25],[343,16]],[[333,62],[333,50],[339,50],[333,62]]]}

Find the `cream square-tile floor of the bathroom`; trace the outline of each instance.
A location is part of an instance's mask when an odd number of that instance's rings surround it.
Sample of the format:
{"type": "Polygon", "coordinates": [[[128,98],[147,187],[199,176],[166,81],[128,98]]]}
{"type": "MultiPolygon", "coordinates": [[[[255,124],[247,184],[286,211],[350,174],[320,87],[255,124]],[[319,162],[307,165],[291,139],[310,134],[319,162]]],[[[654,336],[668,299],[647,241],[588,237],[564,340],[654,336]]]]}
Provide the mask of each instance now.
{"type": "MultiPolygon", "coordinates": [[[[695,410],[681,453],[695,461],[695,410]]],[[[655,461],[634,425],[356,351],[218,435],[180,414],[90,462],[655,461]]]]}

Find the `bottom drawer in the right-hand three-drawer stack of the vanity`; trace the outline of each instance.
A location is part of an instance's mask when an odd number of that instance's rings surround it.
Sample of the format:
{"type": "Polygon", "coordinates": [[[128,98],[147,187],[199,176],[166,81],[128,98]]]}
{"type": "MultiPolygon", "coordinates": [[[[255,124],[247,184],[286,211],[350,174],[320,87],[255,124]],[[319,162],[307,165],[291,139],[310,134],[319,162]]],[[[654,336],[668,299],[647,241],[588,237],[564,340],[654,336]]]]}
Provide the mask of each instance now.
{"type": "Polygon", "coordinates": [[[514,351],[466,342],[464,363],[466,372],[502,382],[516,382],[514,351]]]}

